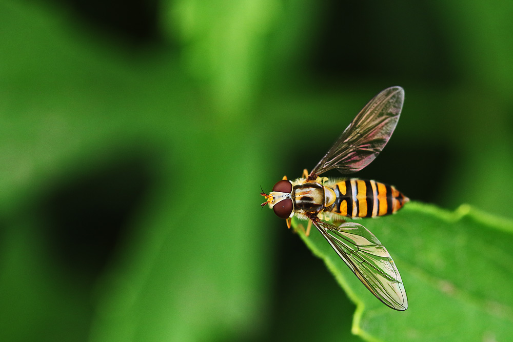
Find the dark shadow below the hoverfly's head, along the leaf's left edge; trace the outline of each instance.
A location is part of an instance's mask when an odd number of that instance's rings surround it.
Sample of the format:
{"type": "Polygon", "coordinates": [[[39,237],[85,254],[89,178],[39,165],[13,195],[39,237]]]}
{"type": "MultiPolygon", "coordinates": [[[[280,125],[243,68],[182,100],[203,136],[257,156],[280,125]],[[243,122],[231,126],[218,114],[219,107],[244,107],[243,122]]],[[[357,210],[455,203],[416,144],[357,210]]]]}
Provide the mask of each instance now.
{"type": "MultiPolygon", "coordinates": [[[[267,312],[266,331],[252,338],[234,340],[284,341],[319,340],[329,337],[337,340],[350,336],[354,304],[337,284],[333,275],[326,269],[323,261],[315,257],[305,246],[301,238],[287,229],[284,220],[277,217],[275,229],[278,229],[276,245],[278,255],[275,259],[271,298],[272,307],[267,312]],[[326,311],[326,308],[330,308],[326,311]],[[336,326],[337,329],[326,327],[336,326]],[[313,329],[312,329],[313,327],[313,329]],[[324,329],[322,333],[318,329],[324,329]],[[344,336],[327,335],[328,331],[345,331],[344,336]]],[[[271,270],[269,270],[271,272],[271,270]]],[[[363,286],[363,285],[362,285],[363,286]]],[[[353,340],[353,339],[350,339],[353,340]]],[[[359,340],[354,337],[354,340],[359,340]]]]}

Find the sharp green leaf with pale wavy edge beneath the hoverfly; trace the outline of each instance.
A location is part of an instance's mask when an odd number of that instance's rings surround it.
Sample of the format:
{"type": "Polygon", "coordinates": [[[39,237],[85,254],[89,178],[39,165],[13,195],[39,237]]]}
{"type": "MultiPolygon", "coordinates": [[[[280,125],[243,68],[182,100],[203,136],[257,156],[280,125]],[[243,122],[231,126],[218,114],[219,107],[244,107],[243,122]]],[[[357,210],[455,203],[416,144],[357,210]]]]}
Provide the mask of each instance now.
{"type": "Polygon", "coordinates": [[[396,215],[358,222],[394,259],[408,295],[406,311],[375,298],[317,230],[309,237],[298,230],[357,305],[354,334],[372,341],[513,336],[513,222],[467,205],[448,212],[415,202],[396,215]]]}

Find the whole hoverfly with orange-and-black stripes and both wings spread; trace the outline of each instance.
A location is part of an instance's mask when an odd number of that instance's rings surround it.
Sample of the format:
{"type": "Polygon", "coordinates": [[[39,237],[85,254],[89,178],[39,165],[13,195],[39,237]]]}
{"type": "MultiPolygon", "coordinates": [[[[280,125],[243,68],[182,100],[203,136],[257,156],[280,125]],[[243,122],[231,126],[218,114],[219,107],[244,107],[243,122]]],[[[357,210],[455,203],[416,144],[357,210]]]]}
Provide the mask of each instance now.
{"type": "Polygon", "coordinates": [[[385,305],[406,310],[403,281],[390,254],[364,226],[343,217],[377,217],[393,214],[408,202],[396,188],[374,180],[320,177],[337,169],[348,174],[369,165],[383,150],[396,128],[404,90],[391,87],[376,95],[342,132],[326,155],[308,174],[290,181],[284,176],[265,197],[274,213],[290,228],[293,216],[308,219],[306,236],[313,224],[331,247],[385,305]]]}

